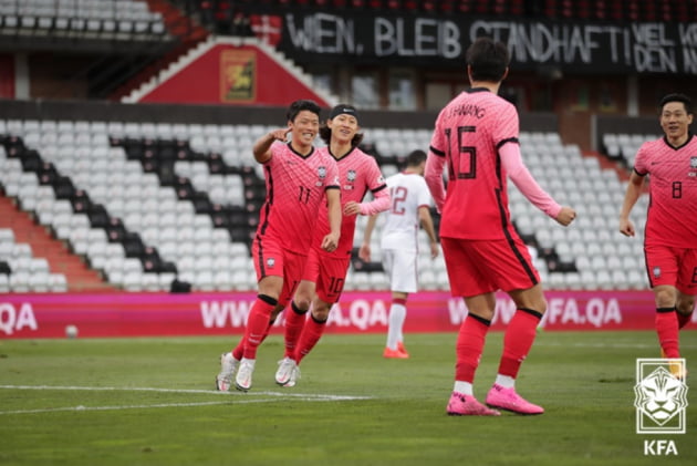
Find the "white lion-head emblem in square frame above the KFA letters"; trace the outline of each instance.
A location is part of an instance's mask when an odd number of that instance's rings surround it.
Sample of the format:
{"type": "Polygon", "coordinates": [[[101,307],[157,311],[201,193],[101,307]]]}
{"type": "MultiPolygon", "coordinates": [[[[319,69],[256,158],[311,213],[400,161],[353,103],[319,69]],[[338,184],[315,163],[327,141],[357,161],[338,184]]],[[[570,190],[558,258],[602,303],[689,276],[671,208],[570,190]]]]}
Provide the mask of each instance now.
{"type": "Polygon", "coordinates": [[[637,434],[685,434],[685,359],[637,359],[634,406],[637,434]]]}

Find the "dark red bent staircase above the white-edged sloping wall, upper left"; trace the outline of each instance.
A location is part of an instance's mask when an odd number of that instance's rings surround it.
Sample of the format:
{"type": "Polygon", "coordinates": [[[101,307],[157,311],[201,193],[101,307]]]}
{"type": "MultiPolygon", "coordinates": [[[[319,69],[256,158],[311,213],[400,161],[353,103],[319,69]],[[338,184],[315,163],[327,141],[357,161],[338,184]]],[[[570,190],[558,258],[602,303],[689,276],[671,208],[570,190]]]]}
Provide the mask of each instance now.
{"type": "Polygon", "coordinates": [[[165,0],[146,1],[150,11],[162,13],[167,31],[176,38],[179,44],[117,89],[112,95],[113,101],[122,100],[147,81],[159,75],[163,70],[167,69],[179,56],[185,55],[209,37],[208,30],[197,24],[170,2],[165,0]]]}

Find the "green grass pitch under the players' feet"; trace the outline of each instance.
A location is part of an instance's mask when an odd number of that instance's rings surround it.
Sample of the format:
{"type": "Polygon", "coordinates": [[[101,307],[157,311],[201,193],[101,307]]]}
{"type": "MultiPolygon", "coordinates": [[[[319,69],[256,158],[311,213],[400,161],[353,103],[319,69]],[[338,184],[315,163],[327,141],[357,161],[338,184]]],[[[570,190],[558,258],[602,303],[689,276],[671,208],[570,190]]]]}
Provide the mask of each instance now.
{"type": "MultiPolygon", "coordinates": [[[[541,416],[450,417],[455,333],[327,334],[293,389],[273,383],[282,338],[259,350],[249,393],[218,393],[231,338],[0,340],[0,465],[652,465],[697,464],[697,387],[687,433],[636,434],[637,358],[654,332],[542,332],[518,379],[541,416]],[[645,455],[669,439],[677,456],[645,455]]],[[[496,375],[489,334],[475,391],[496,375]]],[[[697,332],[683,331],[697,374],[697,332]]],[[[689,386],[690,379],[687,384],[689,386]]]]}

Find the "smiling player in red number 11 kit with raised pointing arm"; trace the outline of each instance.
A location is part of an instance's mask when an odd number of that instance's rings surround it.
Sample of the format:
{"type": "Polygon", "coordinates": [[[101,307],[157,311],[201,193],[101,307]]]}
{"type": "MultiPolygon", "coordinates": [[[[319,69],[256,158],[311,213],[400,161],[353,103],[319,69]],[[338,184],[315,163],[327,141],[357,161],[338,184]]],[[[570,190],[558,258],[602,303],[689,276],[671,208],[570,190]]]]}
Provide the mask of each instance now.
{"type": "Polygon", "coordinates": [[[240,391],[252,385],[257,348],[267,336],[272,315],[283,309],[302,278],[320,206],[325,204],[326,228],[320,247],[334,251],[341,235],[341,195],[336,162],[313,142],[320,130],[320,107],[313,101],[293,102],[288,127],[260,137],[254,158],[263,165],[267,197],[259,213],[252,258],[259,294],[252,304],[240,344],[220,358],[216,387],[230,389],[232,375],[240,391]],[[291,141],[285,143],[288,133],[291,141]]]}

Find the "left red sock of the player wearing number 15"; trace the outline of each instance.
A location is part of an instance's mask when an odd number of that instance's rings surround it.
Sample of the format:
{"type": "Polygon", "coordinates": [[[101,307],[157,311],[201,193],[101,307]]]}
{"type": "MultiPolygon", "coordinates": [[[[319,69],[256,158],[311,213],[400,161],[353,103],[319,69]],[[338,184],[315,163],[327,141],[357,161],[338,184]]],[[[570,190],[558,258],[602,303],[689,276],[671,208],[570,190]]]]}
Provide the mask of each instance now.
{"type": "Polygon", "coordinates": [[[457,335],[455,351],[455,380],[472,383],[479,366],[485,339],[491,322],[475,314],[467,314],[457,335]]]}

